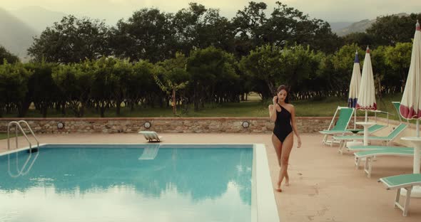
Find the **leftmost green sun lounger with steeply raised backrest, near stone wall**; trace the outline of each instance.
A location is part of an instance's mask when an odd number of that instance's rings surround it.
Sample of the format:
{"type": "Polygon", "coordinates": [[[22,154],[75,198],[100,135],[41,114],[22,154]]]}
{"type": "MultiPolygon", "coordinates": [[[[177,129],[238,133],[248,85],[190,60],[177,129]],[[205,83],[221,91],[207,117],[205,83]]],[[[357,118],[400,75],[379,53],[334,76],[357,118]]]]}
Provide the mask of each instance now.
{"type": "Polygon", "coordinates": [[[343,135],[349,132],[346,129],[348,127],[348,124],[350,123],[353,112],[354,112],[354,108],[338,106],[338,108],[335,111],[335,114],[333,115],[332,121],[330,121],[330,125],[328,129],[319,131],[321,134],[325,135],[322,141],[323,144],[330,144],[330,146],[332,146],[335,140],[334,139],[328,140],[329,136],[343,135]],[[335,117],[338,114],[338,112],[339,112],[339,117],[338,117],[338,121],[336,121],[336,124],[335,124],[334,123],[335,117]]]}

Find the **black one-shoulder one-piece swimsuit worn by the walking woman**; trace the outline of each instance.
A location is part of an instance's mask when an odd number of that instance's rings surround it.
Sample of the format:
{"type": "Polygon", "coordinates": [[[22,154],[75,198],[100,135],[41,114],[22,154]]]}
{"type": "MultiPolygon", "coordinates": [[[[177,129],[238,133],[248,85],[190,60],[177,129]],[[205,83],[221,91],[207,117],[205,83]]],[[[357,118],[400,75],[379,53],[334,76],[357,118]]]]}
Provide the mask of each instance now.
{"type": "MultiPolygon", "coordinates": [[[[273,134],[283,142],[285,138],[293,132],[293,127],[291,127],[291,113],[279,105],[281,107],[280,112],[276,110],[276,120],[275,120],[275,127],[273,128],[273,134]]],[[[274,109],[276,109],[274,107],[274,109]]]]}

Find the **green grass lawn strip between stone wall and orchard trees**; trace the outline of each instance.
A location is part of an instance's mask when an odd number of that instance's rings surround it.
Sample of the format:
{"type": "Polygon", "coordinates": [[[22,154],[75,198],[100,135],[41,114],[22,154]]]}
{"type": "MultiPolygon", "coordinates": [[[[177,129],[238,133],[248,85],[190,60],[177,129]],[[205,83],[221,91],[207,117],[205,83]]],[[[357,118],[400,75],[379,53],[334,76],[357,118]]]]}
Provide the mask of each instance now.
{"type": "MultiPolygon", "coordinates": [[[[377,98],[378,110],[390,112],[390,119],[398,120],[397,112],[392,105],[392,101],[400,101],[402,94],[387,95],[381,100],[377,98]]],[[[331,117],[335,113],[336,107],[347,106],[347,99],[338,97],[329,97],[323,100],[298,100],[291,101],[295,105],[296,115],[298,117],[331,117]]],[[[271,101],[262,102],[260,97],[253,95],[245,102],[227,102],[223,104],[206,104],[198,112],[194,112],[193,106],[189,107],[187,112],[183,112],[178,107],[176,117],[268,117],[268,105],[271,101]]],[[[369,112],[370,113],[370,112],[369,112]]],[[[364,116],[365,112],[358,111],[358,116],[364,116]]],[[[371,114],[372,115],[372,114],[371,114]]],[[[386,117],[386,115],[377,115],[386,117]]],[[[16,114],[4,115],[4,117],[16,117],[16,114]]],[[[26,117],[42,117],[37,110],[29,110],[26,117]]],[[[47,117],[74,117],[71,110],[66,111],[66,115],[56,110],[49,110],[47,117]]],[[[85,117],[100,117],[94,109],[86,110],[85,117]]],[[[132,112],[129,108],[122,107],[121,114],[116,115],[114,109],[107,110],[105,117],[175,117],[172,107],[166,108],[142,108],[136,107],[132,112]]]]}

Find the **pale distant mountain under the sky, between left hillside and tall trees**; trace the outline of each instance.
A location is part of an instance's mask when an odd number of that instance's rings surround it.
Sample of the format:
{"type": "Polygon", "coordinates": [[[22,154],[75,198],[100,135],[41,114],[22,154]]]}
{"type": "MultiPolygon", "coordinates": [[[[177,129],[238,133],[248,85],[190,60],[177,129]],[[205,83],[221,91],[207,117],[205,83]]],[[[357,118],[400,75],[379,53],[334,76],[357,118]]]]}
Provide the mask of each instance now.
{"type": "Polygon", "coordinates": [[[40,6],[26,6],[11,11],[11,14],[35,28],[39,33],[44,31],[46,27],[53,26],[54,22],[59,22],[61,21],[61,18],[67,16],[67,14],[64,14],[63,12],[49,11],[40,6]]]}

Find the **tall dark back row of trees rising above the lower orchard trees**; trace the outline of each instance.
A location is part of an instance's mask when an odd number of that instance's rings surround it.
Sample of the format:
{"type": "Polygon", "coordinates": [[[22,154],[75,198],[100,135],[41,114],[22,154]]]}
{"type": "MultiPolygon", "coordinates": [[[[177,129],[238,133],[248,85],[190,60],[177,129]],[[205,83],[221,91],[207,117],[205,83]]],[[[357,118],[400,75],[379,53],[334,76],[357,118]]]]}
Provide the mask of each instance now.
{"type": "Polygon", "coordinates": [[[328,22],[276,3],[272,14],[267,5],[250,1],[235,17],[220,16],[218,9],[191,3],[175,14],[159,9],[140,9],[127,20],[108,27],[103,21],[66,16],[34,38],[29,55],[36,61],[78,63],[102,56],[152,63],[173,58],[177,52],[189,56],[195,48],[214,46],[246,56],[265,44],[297,43],[316,51],[333,53],[342,42],[328,22]]]}

